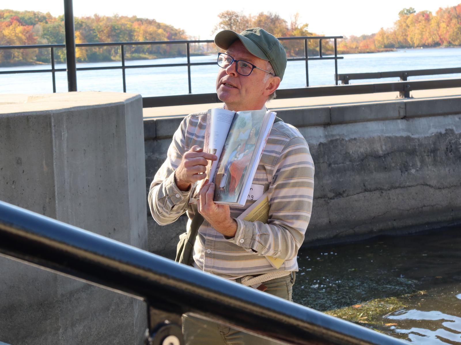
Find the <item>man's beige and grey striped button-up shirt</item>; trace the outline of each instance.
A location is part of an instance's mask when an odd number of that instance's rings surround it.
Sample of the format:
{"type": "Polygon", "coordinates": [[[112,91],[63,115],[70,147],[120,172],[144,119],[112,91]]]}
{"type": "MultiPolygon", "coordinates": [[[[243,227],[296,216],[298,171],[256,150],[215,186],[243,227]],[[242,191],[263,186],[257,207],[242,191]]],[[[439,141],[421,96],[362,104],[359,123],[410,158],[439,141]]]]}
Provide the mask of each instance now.
{"type": "MultiPolygon", "coordinates": [[[[174,181],[174,171],[190,147],[203,147],[206,122],[206,111],[184,118],[173,135],[165,162],[150,185],[148,203],[160,225],[174,222],[187,211],[189,231],[197,211],[196,205],[189,205],[194,190],[180,191],[174,181]]],[[[205,220],[195,240],[195,267],[228,279],[298,270],[296,257],[312,210],[314,164],[306,140],[295,127],[284,122],[274,123],[253,184],[268,191],[268,222],[236,219],[237,232],[233,238],[226,239],[205,220]],[[285,261],[275,269],[265,256],[285,261]]],[[[237,218],[254,201],[247,200],[244,206],[231,205],[231,216],[237,218]]]]}

